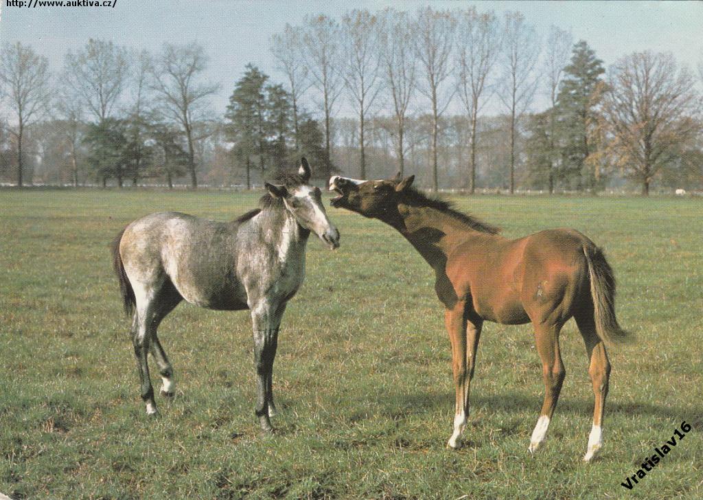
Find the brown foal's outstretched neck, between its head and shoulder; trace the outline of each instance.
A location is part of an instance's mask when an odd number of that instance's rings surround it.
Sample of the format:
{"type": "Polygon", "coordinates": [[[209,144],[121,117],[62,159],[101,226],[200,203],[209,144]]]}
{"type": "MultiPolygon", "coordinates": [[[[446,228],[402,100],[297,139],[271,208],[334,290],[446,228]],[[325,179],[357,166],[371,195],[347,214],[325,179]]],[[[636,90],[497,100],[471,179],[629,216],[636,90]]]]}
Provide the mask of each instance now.
{"type": "Polygon", "coordinates": [[[456,217],[428,206],[399,203],[394,214],[381,220],[399,231],[433,269],[444,269],[453,248],[478,234],[456,217]]]}

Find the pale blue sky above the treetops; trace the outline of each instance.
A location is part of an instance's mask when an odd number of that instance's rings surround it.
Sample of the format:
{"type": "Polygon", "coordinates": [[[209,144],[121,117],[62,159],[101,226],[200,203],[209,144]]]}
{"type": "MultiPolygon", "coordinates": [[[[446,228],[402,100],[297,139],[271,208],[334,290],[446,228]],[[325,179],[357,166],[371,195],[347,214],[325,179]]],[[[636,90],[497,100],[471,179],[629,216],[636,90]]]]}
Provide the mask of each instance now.
{"type": "MultiPolygon", "coordinates": [[[[302,23],[306,15],[327,13],[340,19],[350,8],[377,11],[385,6],[415,11],[463,8],[521,11],[542,37],[552,24],[572,30],[574,41],[586,39],[606,66],[633,51],[671,51],[693,70],[703,60],[703,2],[700,1],[226,1],[117,0],[115,8],[18,8],[0,11],[0,41],[32,44],[54,70],[63,54],[89,37],[157,51],[164,41],[197,40],[210,56],[207,77],[221,84],[213,109],[221,114],[234,82],[252,62],[274,80],[269,53],[271,34],[285,23],[302,23]]],[[[539,101],[537,103],[539,107],[539,101]]]]}

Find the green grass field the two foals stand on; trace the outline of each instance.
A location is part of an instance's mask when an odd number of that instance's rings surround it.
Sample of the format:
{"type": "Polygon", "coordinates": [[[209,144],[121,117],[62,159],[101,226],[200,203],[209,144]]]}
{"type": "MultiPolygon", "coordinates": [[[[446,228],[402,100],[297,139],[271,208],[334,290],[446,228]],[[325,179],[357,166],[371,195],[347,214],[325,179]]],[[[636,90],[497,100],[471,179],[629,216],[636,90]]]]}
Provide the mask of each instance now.
{"type": "MultiPolygon", "coordinates": [[[[583,342],[562,333],[567,379],[543,449],[529,326],[488,323],[467,446],[430,268],[380,222],[328,209],[342,233],[308,246],[283,319],[274,437],[254,418],[247,312],[181,305],[160,328],[177,396],[148,418],[108,243],[138,216],[228,219],[254,193],[0,191],[0,492],[13,499],[703,498],[703,203],[652,198],[456,198],[521,236],[572,226],[607,251],[633,345],[613,372],[600,459],[583,342]],[[636,473],[693,425],[632,490],[636,473]]],[[[326,202],[325,202],[326,203],[326,202]]],[[[154,373],[155,371],[153,371],[154,373]]],[[[156,380],[155,380],[156,381],[156,380]]],[[[158,387],[158,386],[157,386],[158,387]]]]}

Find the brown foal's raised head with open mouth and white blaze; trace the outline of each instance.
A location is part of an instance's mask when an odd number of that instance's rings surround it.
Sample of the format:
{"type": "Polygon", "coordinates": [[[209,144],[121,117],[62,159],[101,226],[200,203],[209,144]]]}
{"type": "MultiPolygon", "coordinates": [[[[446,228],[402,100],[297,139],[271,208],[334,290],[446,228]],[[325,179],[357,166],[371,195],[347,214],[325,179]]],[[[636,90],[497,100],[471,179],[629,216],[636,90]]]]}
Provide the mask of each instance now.
{"type": "Polygon", "coordinates": [[[333,175],[330,177],[330,191],[336,196],[330,203],[333,207],[346,208],[364,217],[381,217],[398,205],[399,195],[413,184],[414,175],[402,179],[362,181],[333,175]]]}

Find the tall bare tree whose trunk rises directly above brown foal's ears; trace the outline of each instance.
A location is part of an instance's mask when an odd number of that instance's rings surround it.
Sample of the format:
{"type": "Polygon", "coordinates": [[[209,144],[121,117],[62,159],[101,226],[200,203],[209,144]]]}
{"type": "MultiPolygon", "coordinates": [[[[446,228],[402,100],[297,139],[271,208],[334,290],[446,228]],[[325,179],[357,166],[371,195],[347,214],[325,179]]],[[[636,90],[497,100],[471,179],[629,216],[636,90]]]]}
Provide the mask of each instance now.
{"type": "Polygon", "coordinates": [[[393,8],[382,13],[379,25],[382,75],[393,101],[396,124],[396,154],[401,177],[405,173],[405,122],[413,92],[415,91],[415,54],[411,48],[413,31],[408,15],[393,8]]]}

